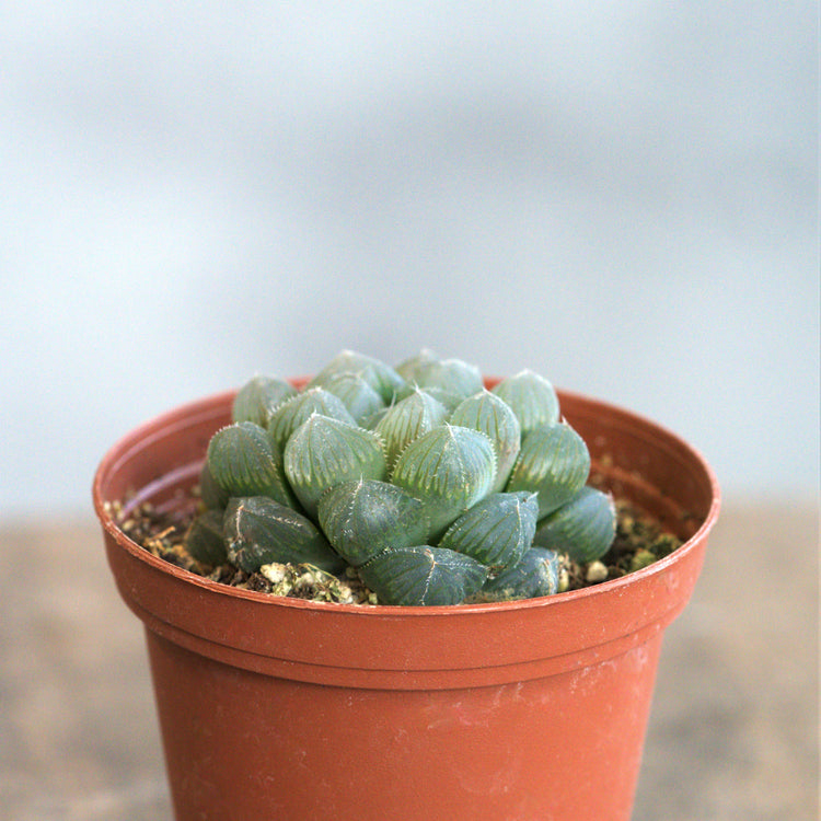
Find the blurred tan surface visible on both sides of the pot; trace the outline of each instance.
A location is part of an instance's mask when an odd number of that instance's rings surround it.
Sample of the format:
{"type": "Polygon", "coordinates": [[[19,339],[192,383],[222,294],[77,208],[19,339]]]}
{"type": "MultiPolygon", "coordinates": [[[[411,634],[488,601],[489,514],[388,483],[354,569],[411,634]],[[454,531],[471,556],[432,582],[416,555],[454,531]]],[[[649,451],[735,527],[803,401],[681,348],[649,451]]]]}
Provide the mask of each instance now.
{"type": "MultiPolygon", "coordinates": [[[[0,540],[0,816],[171,821],[142,628],[96,524],[0,540]]],[[[814,506],[725,505],[666,635],[634,821],[818,818],[818,540],[814,506]]]]}

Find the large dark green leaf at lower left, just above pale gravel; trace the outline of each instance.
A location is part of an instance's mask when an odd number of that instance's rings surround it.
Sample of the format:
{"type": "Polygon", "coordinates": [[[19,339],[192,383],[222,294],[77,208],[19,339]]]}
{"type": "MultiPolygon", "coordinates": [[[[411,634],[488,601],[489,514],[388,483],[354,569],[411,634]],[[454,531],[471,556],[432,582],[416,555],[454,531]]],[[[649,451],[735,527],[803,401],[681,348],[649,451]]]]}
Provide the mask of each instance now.
{"type": "Polygon", "coordinates": [[[229,560],[246,573],[274,562],[311,564],[328,573],[345,568],[310,519],[265,496],[231,499],[223,532],[229,560]]]}

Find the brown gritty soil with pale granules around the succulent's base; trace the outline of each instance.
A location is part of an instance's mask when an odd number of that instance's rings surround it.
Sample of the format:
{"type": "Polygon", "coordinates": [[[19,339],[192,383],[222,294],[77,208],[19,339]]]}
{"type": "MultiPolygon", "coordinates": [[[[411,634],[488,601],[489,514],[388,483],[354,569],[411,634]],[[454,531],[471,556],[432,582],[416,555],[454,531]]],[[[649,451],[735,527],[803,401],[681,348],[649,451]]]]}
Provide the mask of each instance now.
{"type": "MultiPolygon", "coordinates": [[[[248,574],[224,564],[217,567],[203,565],[192,557],[184,546],[185,533],[196,511],[195,498],[171,512],[160,511],[144,502],[123,517],[123,505],[109,505],[111,513],[123,532],[134,542],[165,562],[223,585],[269,593],[290,595],[312,601],[333,601],[349,604],[379,604],[378,597],[369,590],[354,568],[340,577],[333,576],[313,565],[266,565],[248,574]]],[[[615,499],[616,535],[604,556],[589,564],[565,560],[559,590],[579,590],[646,567],[663,558],[682,544],[675,535],[664,530],[658,520],[623,499],[615,499]]]]}

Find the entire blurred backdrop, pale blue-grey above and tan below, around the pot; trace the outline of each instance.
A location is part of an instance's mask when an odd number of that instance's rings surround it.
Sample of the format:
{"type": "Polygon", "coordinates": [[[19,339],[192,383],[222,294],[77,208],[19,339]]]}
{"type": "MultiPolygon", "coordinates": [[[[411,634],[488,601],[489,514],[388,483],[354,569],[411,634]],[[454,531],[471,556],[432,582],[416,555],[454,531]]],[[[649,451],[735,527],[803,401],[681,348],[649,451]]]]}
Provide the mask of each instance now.
{"type": "Polygon", "coordinates": [[[105,450],[255,372],[423,346],[703,451],[726,505],[634,819],[818,818],[818,18],[0,0],[3,818],[172,814],[105,450]]]}

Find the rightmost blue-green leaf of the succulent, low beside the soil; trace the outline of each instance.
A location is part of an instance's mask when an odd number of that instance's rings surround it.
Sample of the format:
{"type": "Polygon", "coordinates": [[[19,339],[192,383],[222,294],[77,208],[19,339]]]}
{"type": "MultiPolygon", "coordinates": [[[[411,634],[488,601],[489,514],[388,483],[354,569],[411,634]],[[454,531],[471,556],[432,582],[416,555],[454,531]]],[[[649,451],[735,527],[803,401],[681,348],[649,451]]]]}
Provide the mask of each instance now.
{"type": "Polygon", "coordinates": [[[612,497],[585,486],[540,523],[533,543],[566,553],[574,562],[585,564],[610,550],[615,527],[612,497]]]}

